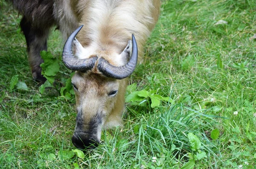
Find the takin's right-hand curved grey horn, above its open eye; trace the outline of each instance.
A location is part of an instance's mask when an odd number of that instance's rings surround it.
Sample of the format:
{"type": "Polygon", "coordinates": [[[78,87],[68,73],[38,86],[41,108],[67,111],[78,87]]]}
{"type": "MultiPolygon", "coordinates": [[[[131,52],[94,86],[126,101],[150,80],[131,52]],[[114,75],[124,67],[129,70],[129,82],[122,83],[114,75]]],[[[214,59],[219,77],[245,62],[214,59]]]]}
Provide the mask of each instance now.
{"type": "Polygon", "coordinates": [[[131,75],[134,71],[138,59],[137,42],[132,34],[132,52],[130,61],[123,66],[113,66],[103,58],[99,58],[98,70],[105,76],[112,77],[114,79],[124,79],[131,75]]]}

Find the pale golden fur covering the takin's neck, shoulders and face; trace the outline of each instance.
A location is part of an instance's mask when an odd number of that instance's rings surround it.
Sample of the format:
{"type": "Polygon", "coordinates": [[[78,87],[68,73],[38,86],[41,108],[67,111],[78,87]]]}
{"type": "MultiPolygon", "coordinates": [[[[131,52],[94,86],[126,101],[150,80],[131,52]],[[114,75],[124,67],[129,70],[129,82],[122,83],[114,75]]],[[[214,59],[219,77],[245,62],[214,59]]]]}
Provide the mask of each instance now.
{"type": "MultiPolygon", "coordinates": [[[[81,24],[84,25],[76,36],[82,46],[75,54],[79,59],[98,56],[104,57],[112,65],[125,65],[128,60],[123,58],[121,53],[131,39],[131,34],[134,34],[138,45],[138,61],[142,60],[143,46],[159,16],[160,0],[76,0],[76,2],[77,5],[73,9],[65,8],[68,5],[59,6],[58,10],[55,8],[55,11],[65,11],[55,16],[59,17],[60,30],[64,38],[72,33],[71,30],[81,24]],[[71,24],[70,28],[67,27],[67,23],[71,24]]],[[[65,3],[70,4],[68,0],[65,3]]],[[[100,128],[122,126],[128,78],[116,80],[104,77],[95,66],[88,73],[76,72],[72,82],[78,88],[75,90],[76,106],[83,112],[82,118],[85,124],[88,124],[95,113],[102,112],[104,118],[100,128]],[[112,90],[118,90],[116,96],[108,96],[112,90]]],[[[83,130],[86,131],[88,128],[85,127],[83,130]]],[[[99,133],[98,137],[100,137],[99,133]]]]}

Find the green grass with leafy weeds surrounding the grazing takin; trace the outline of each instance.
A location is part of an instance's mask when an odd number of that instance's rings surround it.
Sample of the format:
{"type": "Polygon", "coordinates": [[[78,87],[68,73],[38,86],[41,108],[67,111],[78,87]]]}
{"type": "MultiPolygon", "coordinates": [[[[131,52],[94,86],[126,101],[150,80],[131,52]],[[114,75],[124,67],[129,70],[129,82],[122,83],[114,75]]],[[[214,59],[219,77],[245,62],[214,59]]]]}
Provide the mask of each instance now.
{"type": "Polygon", "coordinates": [[[255,0],[163,2],[159,22],[145,46],[145,60],[131,76],[131,84],[137,83],[137,91],[155,90],[169,102],[152,108],[149,97],[140,105],[129,101],[123,129],[103,131],[101,145],[84,158],[65,158],[75,149],[71,136],[76,112],[74,98],[59,94],[70,74],[61,62],[60,33],[52,31],[48,51],[59,60],[61,72],[55,87],[40,94],[27,62],[21,16],[3,3],[0,166],[255,168],[255,8],[255,0]],[[15,75],[28,90],[10,90],[15,75]],[[215,129],[220,135],[212,140],[215,129]],[[189,133],[195,138],[189,139],[189,133]]]}

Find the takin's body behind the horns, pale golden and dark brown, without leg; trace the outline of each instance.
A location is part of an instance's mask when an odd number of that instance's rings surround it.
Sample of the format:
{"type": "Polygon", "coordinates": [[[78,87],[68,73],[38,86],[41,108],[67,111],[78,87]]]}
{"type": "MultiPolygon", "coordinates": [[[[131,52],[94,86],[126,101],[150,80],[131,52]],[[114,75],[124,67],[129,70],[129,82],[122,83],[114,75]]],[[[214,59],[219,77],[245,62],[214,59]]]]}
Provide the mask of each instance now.
{"type": "Polygon", "coordinates": [[[38,34],[47,32],[45,30],[55,24],[64,39],[67,39],[83,24],[77,39],[84,51],[76,56],[79,59],[92,55],[103,56],[117,66],[125,64],[119,54],[131,39],[131,34],[136,37],[138,60],[141,62],[143,47],[160,13],[160,0],[9,1],[38,34]]]}

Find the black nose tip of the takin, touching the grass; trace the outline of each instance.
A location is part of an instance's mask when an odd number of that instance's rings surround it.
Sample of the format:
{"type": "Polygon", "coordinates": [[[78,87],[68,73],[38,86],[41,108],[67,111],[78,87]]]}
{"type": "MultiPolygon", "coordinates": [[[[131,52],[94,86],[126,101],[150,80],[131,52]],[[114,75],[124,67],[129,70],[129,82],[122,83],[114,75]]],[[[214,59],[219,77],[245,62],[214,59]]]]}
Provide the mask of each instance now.
{"type": "Polygon", "coordinates": [[[90,139],[84,139],[83,137],[79,137],[77,135],[73,135],[72,137],[72,143],[76,148],[79,149],[95,149],[97,146],[99,146],[99,141],[96,141],[94,138],[90,139]]]}

